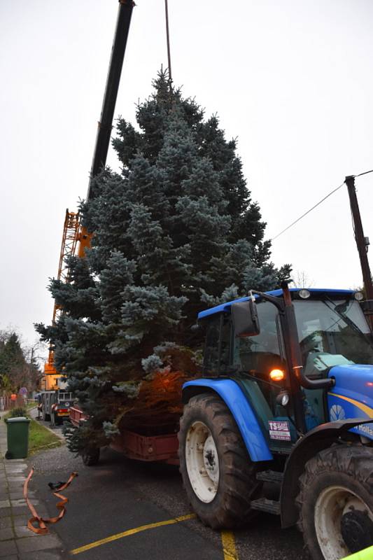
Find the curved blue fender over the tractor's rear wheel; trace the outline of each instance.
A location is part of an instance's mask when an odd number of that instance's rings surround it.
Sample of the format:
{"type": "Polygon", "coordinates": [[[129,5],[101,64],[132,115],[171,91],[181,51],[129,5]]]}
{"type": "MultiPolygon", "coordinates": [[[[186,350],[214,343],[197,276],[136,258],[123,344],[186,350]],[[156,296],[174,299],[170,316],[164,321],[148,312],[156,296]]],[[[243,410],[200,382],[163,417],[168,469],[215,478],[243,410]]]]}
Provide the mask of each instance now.
{"type": "Polygon", "coordinates": [[[273,456],[253,413],[239,385],[232,379],[195,379],[183,385],[183,395],[196,395],[207,391],[218,393],[230,409],[246,444],[251,461],[272,461],[273,456]],[[190,391],[194,388],[194,391],[190,391]],[[196,391],[200,389],[200,391],[196,391]]]}

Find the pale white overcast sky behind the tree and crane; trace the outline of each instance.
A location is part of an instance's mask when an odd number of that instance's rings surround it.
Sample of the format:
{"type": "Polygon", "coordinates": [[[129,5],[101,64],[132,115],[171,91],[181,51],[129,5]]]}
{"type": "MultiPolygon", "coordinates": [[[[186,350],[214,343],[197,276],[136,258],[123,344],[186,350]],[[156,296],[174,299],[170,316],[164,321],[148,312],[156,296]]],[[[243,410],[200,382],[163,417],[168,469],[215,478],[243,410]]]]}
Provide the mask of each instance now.
{"type": "MultiPolygon", "coordinates": [[[[29,342],[52,316],[65,210],[87,192],[117,9],[0,1],[0,329],[29,342]]],[[[238,138],[267,239],[373,169],[371,0],[169,0],[169,20],[174,83],[238,138]]],[[[164,0],[136,0],[116,116],[134,122],[161,64],[164,0]]],[[[373,174],[357,187],[373,244],[373,174]]],[[[346,187],[276,239],[272,260],[314,287],[361,286],[346,187]]]]}

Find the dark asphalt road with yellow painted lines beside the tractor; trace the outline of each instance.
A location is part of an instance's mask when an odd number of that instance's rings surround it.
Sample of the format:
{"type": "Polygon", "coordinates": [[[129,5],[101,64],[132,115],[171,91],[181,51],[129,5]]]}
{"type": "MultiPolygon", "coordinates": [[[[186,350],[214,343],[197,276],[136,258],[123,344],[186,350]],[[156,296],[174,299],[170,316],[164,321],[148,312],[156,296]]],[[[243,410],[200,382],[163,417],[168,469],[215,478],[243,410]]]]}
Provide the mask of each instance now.
{"type": "MultiPolygon", "coordinates": [[[[47,424],[47,423],[46,423],[47,424]]],[[[30,489],[37,489],[50,515],[56,498],[48,482],[79,476],[63,493],[67,513],[53,526],[70,551],[130,529],[173,520],[192,513],[178,468],[130,461],[104,449],[99,464],[85,467],[65,446],[33,456],[30,489]]],[[[218,531],[198,519],[153,526],[74,554],[81,560],[306,560],[302,536],[295,528],[281,530],[279,517],[258,514],[255,521],[234,531],[237,555],[223,549],[218,531]]]]}

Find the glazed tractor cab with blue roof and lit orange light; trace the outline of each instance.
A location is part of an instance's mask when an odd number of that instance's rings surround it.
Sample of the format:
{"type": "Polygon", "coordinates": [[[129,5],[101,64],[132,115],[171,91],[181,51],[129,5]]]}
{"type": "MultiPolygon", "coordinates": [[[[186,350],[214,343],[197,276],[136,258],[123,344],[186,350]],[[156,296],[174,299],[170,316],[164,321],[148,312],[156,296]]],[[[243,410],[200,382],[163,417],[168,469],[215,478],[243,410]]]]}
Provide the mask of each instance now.
{"type": "Polygon", "coordinates": [[[285,310],[274,303],[275,298],[281,300],[283,290],[254,296],[255,325],[250,297],[199,313],[206,329],[204,376],[234,379],[262,424],[269,449],[285,452],[300,433],[329,420],[325,388],[334,382],[333,367],[373,365],[372,333],[357,299],[360,294],[296,288],[288,292],[296,337],[289,332],[285,310]],[[308,386],[295,382],[292,344],[297,346],[298,365],[308,386]]]}

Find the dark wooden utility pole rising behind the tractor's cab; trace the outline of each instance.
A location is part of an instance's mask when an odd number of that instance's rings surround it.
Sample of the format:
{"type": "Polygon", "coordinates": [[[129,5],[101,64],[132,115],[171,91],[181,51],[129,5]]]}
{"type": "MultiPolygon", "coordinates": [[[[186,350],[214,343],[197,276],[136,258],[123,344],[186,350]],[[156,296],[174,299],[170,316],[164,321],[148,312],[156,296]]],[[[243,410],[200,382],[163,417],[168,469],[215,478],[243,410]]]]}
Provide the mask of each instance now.
{"type": "MultiPolygon", "coordinates": [[[[367,300],[373,300],[373,284],[372,274],[368,262],[368,246],[369,239],[364,237],[363,224],[361,223],[360,210],[358,205],[358,197],[356,196],[355,176],[349,175],[344,180],[349,191],[350,205],[353,220],[353,232],[358,246],[358,253],[360,258],[361,271],[363,272],[363,282],[365,287],[365,295],[367,300]]],[[[370,316],[371,325],[373,326],[373,316],[370,316]]]]}

